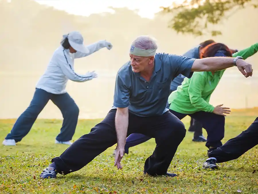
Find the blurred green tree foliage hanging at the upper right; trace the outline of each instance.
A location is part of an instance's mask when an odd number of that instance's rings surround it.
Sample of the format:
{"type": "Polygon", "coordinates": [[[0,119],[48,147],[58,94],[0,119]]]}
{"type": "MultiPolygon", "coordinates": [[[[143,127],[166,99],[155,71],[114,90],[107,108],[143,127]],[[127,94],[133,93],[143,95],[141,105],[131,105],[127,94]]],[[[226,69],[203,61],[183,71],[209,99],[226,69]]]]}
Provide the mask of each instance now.
{"type": "Polygon", "coordinates": [[[246,6],[258,7],[258,0],[185,0],[184,3],[161,7],[163,13],[172,14],[169,27],[177,33],[201,36],[204,32],[220,35],[219,30],[208,31],[208,25],[216,25],[222,19],[246,6]]]}

